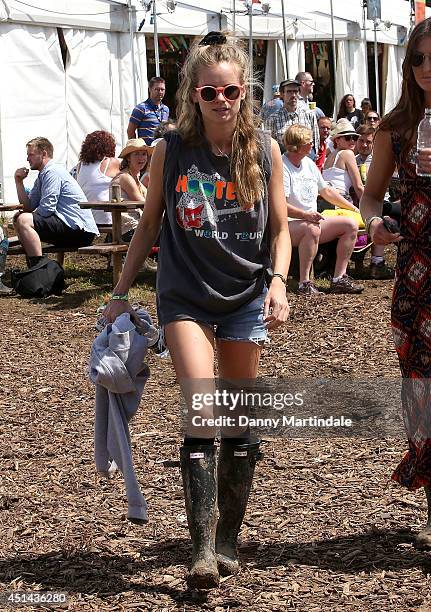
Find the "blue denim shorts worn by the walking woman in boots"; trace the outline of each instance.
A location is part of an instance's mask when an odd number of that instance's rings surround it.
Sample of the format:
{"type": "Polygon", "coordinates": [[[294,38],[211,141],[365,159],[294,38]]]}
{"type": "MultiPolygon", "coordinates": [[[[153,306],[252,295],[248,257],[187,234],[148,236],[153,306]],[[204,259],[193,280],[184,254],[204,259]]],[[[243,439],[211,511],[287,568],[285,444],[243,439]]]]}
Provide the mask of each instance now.
{"type": "Polygon", "coordinates": [[[263,320],[263,308],[268,289],[254,300],[244,304],[232,314],[223,318],[221,323],[198,321],[214,330],[214,336],[219,340],[235,340],[237,342],[264,343],[268,340],[268,331],[263,320]]]}

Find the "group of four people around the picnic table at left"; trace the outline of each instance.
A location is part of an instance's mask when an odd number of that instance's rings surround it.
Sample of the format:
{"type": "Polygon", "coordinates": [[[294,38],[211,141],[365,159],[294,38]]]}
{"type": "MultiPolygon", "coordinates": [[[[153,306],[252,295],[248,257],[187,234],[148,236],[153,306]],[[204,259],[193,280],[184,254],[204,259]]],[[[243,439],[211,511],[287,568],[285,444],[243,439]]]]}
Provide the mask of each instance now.
{"type": "MultiPolygon", "coordinates": [[[[71,172],[54,161],[54,146],[47,138],[33,138],[26,144],[29,168],[15,171],[22,210],[13,224],[29,268],[43,259],[42,242],[56,247],[88,246],[99,236],[98,225],[111,224],[110,213],[83,210],[81,202],[109,201],[114,185],[119,186],[121,199],[145,201],[155,144],[175,128],[169,108],[162,103],[164,94],[164,79],[151,79],[149,97],[134,108],[127,129],[129,140],[118,157],[113,135],[104,130],[87,134],[71,172]],[[31,189],[25,185],[29,170],[39,173],[31,189]]],[[[139,210],[122,214],[124,242],[130,242],[140,215],[139,210]]],[[[2,294],[9,295],[3,287],[2,294]]]]}

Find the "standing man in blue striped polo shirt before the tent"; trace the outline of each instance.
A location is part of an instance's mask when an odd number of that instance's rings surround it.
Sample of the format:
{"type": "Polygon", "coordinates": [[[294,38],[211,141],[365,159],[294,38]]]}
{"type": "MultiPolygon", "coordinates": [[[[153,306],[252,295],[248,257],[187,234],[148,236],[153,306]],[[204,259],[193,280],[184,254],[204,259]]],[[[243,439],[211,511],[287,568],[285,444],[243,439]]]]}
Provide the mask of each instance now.
{"type": "Polygon", "coordinates": [[[153,77],[148,83],[150,97],[140,102],[133,109],[127,126],[127,137],[143,138],[145,144],[151,145],[154,140],[154,130],[169,119],[169,108],[162,104],[166,93],[165,79],[153,77]],[[136,130],[138,135],[136,136],[136,130]]]}

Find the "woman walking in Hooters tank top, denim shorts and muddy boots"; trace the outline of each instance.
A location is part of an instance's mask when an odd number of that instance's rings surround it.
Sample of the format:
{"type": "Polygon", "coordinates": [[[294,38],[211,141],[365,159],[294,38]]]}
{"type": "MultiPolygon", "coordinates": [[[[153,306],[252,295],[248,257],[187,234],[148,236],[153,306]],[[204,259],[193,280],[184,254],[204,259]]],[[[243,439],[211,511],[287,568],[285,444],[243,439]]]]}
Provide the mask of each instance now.
{"type": "MultiPolygon", "coordinates": [[[[215,387],[215,350],[220,379],[254,379],[268,330],[289,313],[281,155],[255,128],[249,66],[240,42],[224,33],[190,49],[177,131],[156,146],[144,214],[105,311],[113,320],[131,310],[127,291],[161,227],[158,318],[190,416],[193,394],[215,387]]],[[[231,432],[216,470],[214,437],[213,428],[189,423],[180,453],[194,588],[238,571],[237,537],[258,457],[248,430],[231,432]]]]}

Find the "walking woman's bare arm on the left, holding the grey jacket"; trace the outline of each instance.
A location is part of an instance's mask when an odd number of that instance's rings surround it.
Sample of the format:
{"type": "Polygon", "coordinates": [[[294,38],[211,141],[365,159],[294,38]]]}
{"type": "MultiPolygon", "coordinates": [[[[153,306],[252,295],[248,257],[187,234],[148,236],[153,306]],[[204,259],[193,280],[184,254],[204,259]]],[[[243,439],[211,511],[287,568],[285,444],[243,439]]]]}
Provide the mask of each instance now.
{"type": "MultiPolygon", "coordinates": [[[[151,182],[148,188],[147,199],[145,200],[144,212],[130,242],[120,280],[114,289],[114,294],[116,295],[128,293],[160,233],[163,212],[165,210],[163,195],[165,151],[166,141],[162,140],[156,145],[153,153],[153,163],[150,170],[151,182]]],[[[103,314],[108,321],[114,321],[119,314],[130,309],[127,300],[115,300],[108,304],[103,314]]]]}

